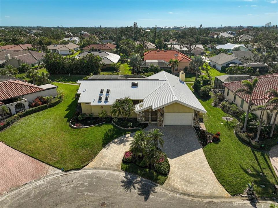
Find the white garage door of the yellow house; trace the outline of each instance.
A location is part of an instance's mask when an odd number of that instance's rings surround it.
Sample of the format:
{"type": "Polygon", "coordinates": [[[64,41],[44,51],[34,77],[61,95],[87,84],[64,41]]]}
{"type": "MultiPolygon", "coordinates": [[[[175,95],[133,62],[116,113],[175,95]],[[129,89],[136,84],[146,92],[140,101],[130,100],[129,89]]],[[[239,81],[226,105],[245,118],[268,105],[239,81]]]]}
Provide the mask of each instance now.
{"type": "Polygon", "coordinates": [[[192,126],[193,113],[164,113],[164,126],[192,126]]]}

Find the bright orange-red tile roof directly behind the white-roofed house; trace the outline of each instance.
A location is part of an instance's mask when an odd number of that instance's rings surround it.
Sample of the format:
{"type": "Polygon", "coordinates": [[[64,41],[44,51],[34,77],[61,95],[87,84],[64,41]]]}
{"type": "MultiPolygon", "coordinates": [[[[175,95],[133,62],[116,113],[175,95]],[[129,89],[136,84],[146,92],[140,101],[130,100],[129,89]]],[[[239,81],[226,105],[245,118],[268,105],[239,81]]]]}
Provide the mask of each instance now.
{"type": "Polygon", "coordinates": [[[175,54],[178,55],[179,62],[191,62],[191,59],[183,53],[176,50],[152,50],[144,53],[145,60],[164,60],[168,62],[170,59],[175,59],[175,54]]]}

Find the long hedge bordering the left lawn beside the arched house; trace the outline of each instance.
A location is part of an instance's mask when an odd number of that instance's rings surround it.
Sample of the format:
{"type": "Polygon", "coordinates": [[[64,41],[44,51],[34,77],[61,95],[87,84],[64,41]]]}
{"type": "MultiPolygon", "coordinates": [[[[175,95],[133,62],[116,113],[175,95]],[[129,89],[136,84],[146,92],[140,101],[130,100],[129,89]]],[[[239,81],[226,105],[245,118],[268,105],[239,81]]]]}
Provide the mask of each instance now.
{"type": "Polygon", "coordinates": [[[58,105],[61,102],[62,102],[62,99],[54,99],[54,101],[52,101],[50,103],[40,105],[37,107],[33,107],[33,108],[29,108],[25,111],[19,112],[15,115],[11,116],[10,118],[6,119],[5,122],[3,122],[3,123],[1,122],[0,131],[5,129],[6,127],[12,125],[14,122],[19,120],[20,118],[23,118],[25,116],[31,115],[36,112],[40,112],[40,111],[45,110],[50,107],[54,107],[55,105],[58,105]]]}

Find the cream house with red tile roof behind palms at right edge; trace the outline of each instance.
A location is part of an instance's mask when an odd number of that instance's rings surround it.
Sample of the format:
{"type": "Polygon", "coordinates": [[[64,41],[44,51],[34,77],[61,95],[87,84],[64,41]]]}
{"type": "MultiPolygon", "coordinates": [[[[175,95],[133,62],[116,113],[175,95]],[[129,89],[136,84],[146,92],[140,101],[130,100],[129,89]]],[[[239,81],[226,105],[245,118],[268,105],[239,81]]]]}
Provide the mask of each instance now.
{"type": "MultiPolygon", "coordinates": [[[[252,98],[251,98],[251,110],[258,105],[264,105],[268,100],[272,98],[272,96],[268,93],[265,94],[265,92],[269,89],[275,89],[278,90],[278,73],[276,74],[268,74],[268,75],[261,75],[255,77],[258,79],[257,86],[255,90],[253,91],[252,98]]],[[[249,81],[253,81],[253,79],[250,79],[249,81]]],[[[224,91],[224,99],[235,103],[240,109],[247,111],[249,98],[250,96],[248,94],[243,93],[236,93],[234,92],[242,88],[241,81],[235,81],[235,82],[229,82],[224,83],[223,86],[225,87],[224,91]]],[[[258,118],[261,117],[260,111],[254,112],[258,118]]],[[[275,112],[270,112],[271,118],[270,118],[270,124],[273,123],[274,114],[275,112]]],[[[266,119],[266,114],[264,114],[264,118],[266,119]]],[[[278,120],[276,122],[278,124],[278,120]]]]}

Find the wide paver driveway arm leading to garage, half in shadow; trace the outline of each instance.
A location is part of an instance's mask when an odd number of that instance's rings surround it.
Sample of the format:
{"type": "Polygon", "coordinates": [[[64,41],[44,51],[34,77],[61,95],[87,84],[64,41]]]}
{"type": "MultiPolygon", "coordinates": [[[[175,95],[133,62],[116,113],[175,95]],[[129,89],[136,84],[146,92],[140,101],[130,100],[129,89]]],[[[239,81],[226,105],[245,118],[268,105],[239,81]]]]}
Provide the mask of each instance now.
{"type": "Polygon", "coordinates": [[[170,163],[170,173],[164,185],[171,190],[194,196],[230,196],[214,176],[193,127],[150,125],[159,128],[170,163]]]}

